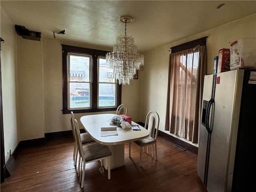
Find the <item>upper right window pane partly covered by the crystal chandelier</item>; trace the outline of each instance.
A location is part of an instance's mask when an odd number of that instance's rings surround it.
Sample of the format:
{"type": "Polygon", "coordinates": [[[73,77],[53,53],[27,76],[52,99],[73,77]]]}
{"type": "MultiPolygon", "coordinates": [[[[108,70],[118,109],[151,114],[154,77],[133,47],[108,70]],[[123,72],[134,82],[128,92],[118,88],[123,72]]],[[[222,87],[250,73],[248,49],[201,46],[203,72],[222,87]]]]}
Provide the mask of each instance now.
{"type": "Polygon", "coordinates": [[[113,70],[109,68],[109,64],[106,64],[106,58],[100,58],[99,64],[99,82],[115,82],[113,70]]]}

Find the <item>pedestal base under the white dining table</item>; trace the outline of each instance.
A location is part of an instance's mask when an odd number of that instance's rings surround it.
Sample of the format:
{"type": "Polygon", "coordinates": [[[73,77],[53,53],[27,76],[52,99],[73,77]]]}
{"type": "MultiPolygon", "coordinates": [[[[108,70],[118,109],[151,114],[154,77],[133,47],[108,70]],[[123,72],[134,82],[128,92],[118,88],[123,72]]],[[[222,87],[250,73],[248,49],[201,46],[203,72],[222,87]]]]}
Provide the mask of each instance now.
{"type": "MultiPolygon", "coordinates": [[[[110,169],[114,169],[124,165],[124,144],[108,145],[112,152],[110,156],[110,169]]],[[[108,160],[104,160],[104,168],[108,170],[108,160]]]]}

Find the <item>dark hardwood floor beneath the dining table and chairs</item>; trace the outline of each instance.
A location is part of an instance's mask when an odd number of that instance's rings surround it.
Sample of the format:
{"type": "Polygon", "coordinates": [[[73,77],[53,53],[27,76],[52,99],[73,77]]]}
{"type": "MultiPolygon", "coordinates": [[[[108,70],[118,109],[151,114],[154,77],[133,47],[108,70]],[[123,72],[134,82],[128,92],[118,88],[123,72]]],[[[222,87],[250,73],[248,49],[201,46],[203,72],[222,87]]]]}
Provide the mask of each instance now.
{"type": "MultiPolygon", "coordinates": [[[[100,174],[99,162],[86,165],[84,189],[73,162],[72,138],[50,140],[44,146],[22,148],[16,169],[1,183],[1,192],[207,192],[196,172],[196,154],[182,151],[158,136],[158,160],[139,147],[125,144],[125,165],[100,174]]],[[[150,148],[151,149],[151,148],[150,148]]]]}

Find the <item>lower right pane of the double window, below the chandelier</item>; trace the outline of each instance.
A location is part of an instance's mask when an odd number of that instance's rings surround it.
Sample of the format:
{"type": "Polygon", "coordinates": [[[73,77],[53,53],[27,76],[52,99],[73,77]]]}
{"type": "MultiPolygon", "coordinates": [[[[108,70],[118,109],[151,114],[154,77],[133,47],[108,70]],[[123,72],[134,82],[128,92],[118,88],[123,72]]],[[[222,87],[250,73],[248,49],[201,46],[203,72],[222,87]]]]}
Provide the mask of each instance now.
{"type": "Polygon", "coordinates": [[[116,105],[116,84],[99,83],[99,107],[116,105]]]}

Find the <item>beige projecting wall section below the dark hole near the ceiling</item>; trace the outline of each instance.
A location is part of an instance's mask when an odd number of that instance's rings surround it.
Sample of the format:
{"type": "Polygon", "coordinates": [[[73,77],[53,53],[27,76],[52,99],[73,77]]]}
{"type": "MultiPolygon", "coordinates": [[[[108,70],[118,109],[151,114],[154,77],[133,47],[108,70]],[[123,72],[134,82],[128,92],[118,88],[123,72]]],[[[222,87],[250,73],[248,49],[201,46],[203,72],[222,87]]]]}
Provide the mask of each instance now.
{"type": "Polygon", "coordinates": [[[44,89],[40,41],[17,35],[20,140],[44,137],[44,89]]]}

